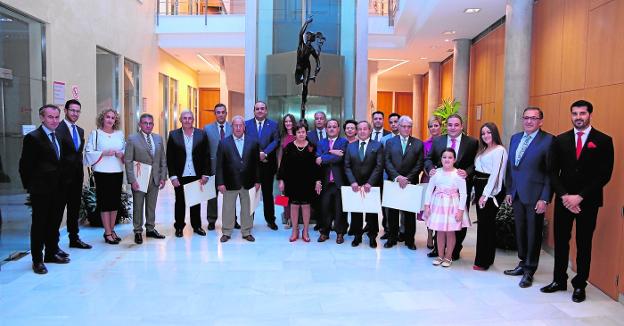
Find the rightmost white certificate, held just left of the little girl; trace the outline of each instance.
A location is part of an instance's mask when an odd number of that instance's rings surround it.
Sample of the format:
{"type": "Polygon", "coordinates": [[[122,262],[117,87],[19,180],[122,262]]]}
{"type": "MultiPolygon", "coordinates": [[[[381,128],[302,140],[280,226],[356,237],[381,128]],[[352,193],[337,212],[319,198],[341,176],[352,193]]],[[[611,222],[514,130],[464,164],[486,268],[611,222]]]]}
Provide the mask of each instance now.
{"type": "Polygon", "coordinates": [[[384,181],[383,207],[400,209],[406,212],[419,213],[423,208],[424,194],[427,184],[408,184],[401,189],[398,182],[384,181]]]}

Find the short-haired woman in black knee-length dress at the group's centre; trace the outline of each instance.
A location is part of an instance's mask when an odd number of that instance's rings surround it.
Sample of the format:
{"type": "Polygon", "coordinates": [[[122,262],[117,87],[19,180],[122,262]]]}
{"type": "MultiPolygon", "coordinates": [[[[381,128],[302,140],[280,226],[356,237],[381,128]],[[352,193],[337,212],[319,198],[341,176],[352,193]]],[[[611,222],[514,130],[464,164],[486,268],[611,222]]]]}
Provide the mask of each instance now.
{"type": "Polygon", "coordinates": [[[308,124],[300,120],[295,126],[295,140],[286,145],[277,172],[279,190],[288,197],[292,235],[290,242],[299,238],[299,207],[303,213],[301,238],[310,242],[310,202],[321,193],[321,175],[316,165],[316,148],[307,140],[308,124]]]}

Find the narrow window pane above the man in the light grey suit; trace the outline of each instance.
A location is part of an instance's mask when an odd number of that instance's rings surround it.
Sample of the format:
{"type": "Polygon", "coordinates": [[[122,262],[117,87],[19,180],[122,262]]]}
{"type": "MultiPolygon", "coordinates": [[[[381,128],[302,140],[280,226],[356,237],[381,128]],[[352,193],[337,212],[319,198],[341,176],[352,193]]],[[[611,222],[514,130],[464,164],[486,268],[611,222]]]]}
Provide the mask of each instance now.
{"type": "Polygon", "coordinates": [[[124,59],[124,126],[126,137],[138,131],[141,115],[140,65],[124,59]]]}

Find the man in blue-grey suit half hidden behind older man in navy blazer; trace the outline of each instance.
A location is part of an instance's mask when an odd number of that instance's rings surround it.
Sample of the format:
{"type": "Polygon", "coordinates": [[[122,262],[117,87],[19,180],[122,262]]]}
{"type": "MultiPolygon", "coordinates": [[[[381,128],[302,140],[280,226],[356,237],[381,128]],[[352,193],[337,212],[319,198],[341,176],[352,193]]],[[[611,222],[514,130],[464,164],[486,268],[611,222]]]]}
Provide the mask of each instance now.
{"type": "MultiPolygon", "coordinates": [[[[225,121],[227,118],[227,107],[225,104],[217,103],[214,108],[214,114],[216,121],[204,127],[206,135],[208,135],[208,143],[210,143],[210,173],[212,175],[217,172],[217,148],[219,148],[219,143],[232,134],[232,125],[225,121]]],[[[206,216],[208,216],[208,230],[214,230],[217,222],[217,198],[208,201],[208,214],[206,216]]],[[[234,227],[240,229],[238,222],[236,222],[234,227]]]]}

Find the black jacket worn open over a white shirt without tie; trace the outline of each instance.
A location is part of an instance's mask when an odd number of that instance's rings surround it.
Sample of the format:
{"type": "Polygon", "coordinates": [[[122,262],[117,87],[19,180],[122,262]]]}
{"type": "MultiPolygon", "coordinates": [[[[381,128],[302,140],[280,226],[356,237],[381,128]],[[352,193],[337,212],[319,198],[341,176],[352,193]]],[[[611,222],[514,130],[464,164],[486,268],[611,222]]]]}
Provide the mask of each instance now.
{"type": "MultiPolygon", "coordinates": [[[[193,128],[193,167],[198,177],[210,175],[210,145],[208,137],[202,129],[193,128]]],[[[186,147],[182,128],[169,132],[167,140],[167,168],[169,177],[178,178],[184,173],[186,147]]]]}

